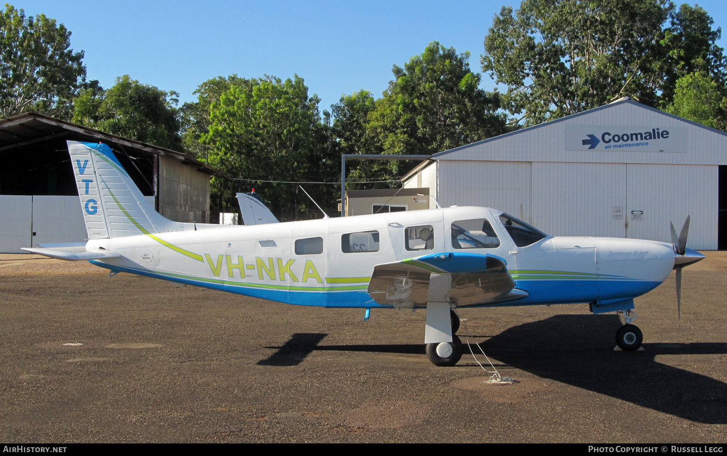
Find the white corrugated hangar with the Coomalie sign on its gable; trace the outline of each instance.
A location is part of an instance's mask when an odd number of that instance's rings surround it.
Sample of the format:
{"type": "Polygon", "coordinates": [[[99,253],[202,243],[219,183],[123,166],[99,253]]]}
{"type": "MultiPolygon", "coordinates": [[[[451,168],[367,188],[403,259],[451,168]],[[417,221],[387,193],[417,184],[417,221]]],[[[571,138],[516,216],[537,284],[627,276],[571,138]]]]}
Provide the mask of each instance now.
{"type": "Polygon", "coordinates": [[[670,221],[691,215],[688,247],[715,250],[726,165],[727,133],[624,98],[436,153],[404,179],[442,207],[501,209],[554,236],[670,242],[670,221]]]}

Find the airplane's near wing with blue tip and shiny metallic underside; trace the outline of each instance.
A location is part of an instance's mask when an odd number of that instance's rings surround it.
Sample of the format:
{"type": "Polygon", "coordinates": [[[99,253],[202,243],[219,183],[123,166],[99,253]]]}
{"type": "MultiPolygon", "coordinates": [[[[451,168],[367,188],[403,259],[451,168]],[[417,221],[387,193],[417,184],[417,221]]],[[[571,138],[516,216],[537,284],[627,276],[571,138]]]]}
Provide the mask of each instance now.
{"type": "MultiPolygon", "coordinates": [[[[426,306],[430,280],[449,276],[447,299],[451,304],[481,305],[520,299],[528,295],[515,289],[505,260],[494,255],[443,252],[374,266],[369,295],[381,305],[426,306]]],[[[441,284],[441,279],[437,279],[441,284]]]]}

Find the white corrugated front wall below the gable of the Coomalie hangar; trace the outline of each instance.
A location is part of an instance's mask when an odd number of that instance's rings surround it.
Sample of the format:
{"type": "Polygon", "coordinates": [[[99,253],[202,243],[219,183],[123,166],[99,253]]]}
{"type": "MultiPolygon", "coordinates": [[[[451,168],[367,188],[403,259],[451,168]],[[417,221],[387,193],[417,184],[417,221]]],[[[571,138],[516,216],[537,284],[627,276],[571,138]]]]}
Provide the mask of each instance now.
{"type": "Polygon", "coordinates": [[[680,231],[691,215],[688,247],[715,250],[717,189],[716,165],[441,161],[439,201],[515,217],[523,204],[523,219],[553,236],[670,242],[670,221],[680,231]]]}

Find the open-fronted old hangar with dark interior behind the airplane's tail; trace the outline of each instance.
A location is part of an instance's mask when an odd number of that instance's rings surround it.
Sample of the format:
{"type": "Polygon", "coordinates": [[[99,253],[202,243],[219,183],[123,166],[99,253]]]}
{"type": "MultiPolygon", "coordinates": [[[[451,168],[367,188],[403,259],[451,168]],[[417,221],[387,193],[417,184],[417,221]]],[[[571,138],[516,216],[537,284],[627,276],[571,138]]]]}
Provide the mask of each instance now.
{"type": "Polygon", "coordinates": [[[0,253],[87,239],[66,140],[105,143],[164,217],[209,223],[209,179],[219,172],[177,151],[39,113],[0,120],[0,253]]]}

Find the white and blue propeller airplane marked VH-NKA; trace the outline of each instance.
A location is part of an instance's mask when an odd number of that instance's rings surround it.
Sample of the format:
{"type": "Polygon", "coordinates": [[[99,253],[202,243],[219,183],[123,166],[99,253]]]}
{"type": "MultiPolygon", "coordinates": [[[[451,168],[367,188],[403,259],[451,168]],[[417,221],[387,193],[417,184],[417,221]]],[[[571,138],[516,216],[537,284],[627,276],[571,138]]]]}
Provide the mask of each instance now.
{"type": "Polygon", "coordinates": [[[616,343],[642,342],[634,297],[704,258],[639,239],[553,237],[487,207],[449,207],[278,223],[238,193],[247,225],[177,223],[154,211],[105,144],[68,141],[89,240],[25,249],[128,272],[297,305],[426,308],[426,352],[462,356],[458,307],[590,303],[620,311],[616,343]],[[252,224],[251,224],[252,223],[252,224]]]}

